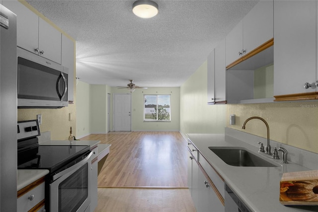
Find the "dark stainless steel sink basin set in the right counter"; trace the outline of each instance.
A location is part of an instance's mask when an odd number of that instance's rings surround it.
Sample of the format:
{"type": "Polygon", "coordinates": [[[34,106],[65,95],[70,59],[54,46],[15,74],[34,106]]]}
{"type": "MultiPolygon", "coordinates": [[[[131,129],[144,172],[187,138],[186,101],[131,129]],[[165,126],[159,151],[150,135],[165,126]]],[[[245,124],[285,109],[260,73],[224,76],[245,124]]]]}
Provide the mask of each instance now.
{"type": "Polygon", "coordinates": [[[231,166],[277,167],[240,147],[209,147],[219,158],[231,166]]]}

